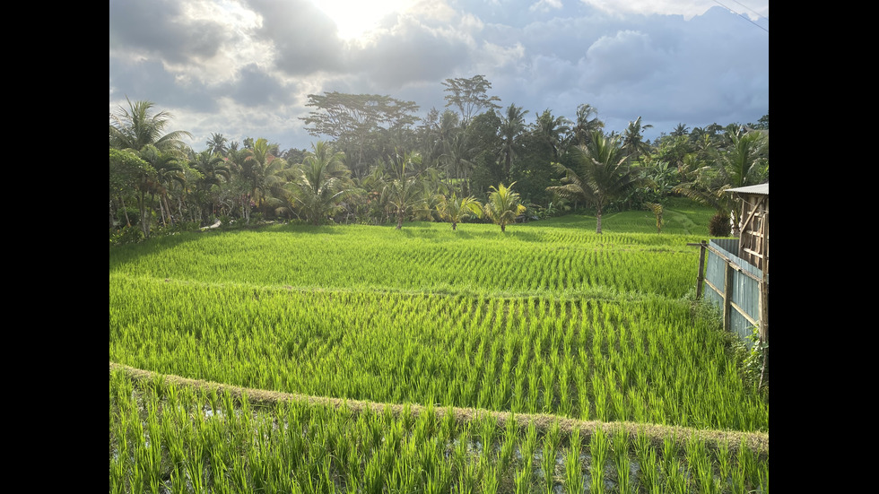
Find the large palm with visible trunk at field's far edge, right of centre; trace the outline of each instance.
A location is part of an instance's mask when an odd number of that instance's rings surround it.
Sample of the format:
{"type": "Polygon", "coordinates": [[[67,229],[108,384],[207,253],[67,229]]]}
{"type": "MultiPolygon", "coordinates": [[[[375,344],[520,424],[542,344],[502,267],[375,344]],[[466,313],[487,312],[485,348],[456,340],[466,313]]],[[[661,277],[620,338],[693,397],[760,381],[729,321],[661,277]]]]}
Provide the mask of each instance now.
{"type": "Polygon", "coordinates": [[[588,146],[571,149],[574,168],[555,164],[564,173],[562,186],[547,187],[564,198],[581,199],[596,208],[596,233],[601,233],[601,214],[607,204],[640,184],[638,173],[626,163],[619,140],[592,133],[588,146]]]}

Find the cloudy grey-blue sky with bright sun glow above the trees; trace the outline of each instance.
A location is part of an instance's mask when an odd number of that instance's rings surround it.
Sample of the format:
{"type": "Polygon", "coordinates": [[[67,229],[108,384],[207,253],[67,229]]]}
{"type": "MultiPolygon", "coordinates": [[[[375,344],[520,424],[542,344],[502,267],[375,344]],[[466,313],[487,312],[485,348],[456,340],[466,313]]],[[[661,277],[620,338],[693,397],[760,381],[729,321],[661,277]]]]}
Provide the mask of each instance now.
{"type": "MultiPolygon", "coordinates": [[[[309,94],[413,101],[483,75],[533,123],[589,104],[605,131],[769,114],[769,0],[110,0],[109,111],[151,101],[166,131],[310,149],[309,94]],[[127,100],[126,100],[127,99],[127,100]]],[[[451,108],[454,109],[454,108],[451,108]]]]}

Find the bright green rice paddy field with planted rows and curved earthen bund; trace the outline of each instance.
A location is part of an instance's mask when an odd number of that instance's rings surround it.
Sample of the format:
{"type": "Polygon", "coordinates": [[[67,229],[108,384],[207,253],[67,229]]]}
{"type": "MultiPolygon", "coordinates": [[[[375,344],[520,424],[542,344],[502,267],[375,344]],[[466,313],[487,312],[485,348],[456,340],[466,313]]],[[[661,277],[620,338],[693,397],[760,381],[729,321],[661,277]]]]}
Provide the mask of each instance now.
{"type": "Polygon", "coordinates": [[[109,490],[768,492],[675,206],[112,247],[109,490]]]}

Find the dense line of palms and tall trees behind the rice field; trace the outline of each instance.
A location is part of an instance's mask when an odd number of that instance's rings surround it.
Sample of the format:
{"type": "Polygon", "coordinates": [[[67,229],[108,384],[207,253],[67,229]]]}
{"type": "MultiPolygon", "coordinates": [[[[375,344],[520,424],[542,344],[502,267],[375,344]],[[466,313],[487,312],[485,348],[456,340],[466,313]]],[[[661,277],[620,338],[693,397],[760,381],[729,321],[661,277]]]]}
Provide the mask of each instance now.
{"type": "Polygon", "coordinates": [[[722,230],[736,213],[723,191],[769,178],[768,115],[747,125],[680,124],[651,143],[640,117],[606,133],[588,104],[571,121],[549,108],[501,107],[481,75],[443,86],[446,108],[424,118],[414,102],[389,96],[309,95],[313,109],[301,119],[326,139],[309,150],[212,134],[196,152],[183,141],[191,134],[167,130],[170,114],[129,100],[110,114],[111,238],[265,220],[402,228],[414,219],[455,229],[483,218],[503,230],[581,208],[596,214],[600,233],[603,212],[631,208],[655,212],[661,228],[670,195],[715,207],[722,230]]]}

